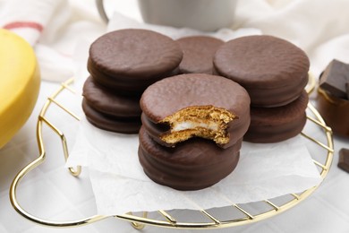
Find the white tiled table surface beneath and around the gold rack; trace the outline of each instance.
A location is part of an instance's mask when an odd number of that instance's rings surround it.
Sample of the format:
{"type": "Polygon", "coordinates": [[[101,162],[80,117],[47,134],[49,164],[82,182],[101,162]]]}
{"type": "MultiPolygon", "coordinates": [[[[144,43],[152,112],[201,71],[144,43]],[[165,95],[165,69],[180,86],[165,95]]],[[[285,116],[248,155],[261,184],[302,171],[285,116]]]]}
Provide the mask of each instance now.
{"type": "MultiPolygon", "coordinates": [[[[133,5],[126,5],[127,13],[133,14],[133,5]]],[[[126,7],[125,6],[125,7],[126,7]]],[[[122,11],[122,9],[119,9],[122,11]]],[[[139,17],[139,15],[137,16],[139,17]]],[[[70,228],[47,228],[25,220],[9,200],[9,188],[13,177],[30,161],[38,157],[36,124],[38,113],[47,97],[57,90],[59,83],[41,83],[38,103],[28,122],[0,150],[0,232],[138,232],[124,220],[107,219],[96,223],[70,228]]],[[[57,116],[58,117],[58,116],[57,116]]],[[[63,125],[73,131],[70,125],[63,125]]],[[[79,178],[72,177],[64,168],[62,147],[58,137],[47,129],[45,142],[47,160],[30,172],[18,189],[21,205],[34,215],[50,220],[74,220],[96,213],[94,197],[83,170],[79,178]]],[[[209,229],[206,232],[349,232],[349,174],[336,167],[338,151],[349,147],[349,141],[335,137],[335,153],[328,177],[302,203],[268,220],[229,229],[209,229]]],[[[178,229],[163,229],[146,226],[140,232],[176,232],[178,229]]],[[[181,232],[197,230],[183,229],[181,232]]]]}

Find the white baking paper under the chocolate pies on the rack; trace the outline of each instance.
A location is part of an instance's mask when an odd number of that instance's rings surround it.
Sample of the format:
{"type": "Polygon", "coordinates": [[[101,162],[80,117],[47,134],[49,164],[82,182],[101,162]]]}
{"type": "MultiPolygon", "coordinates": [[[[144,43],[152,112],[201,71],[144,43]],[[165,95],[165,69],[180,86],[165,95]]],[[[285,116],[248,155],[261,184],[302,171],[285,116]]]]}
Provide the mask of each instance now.
{"type": "MultiPolygon", "coordinates": [[[[115,14],[108,30],[123,28],[157,30],[174,39],[200,34],[196,30],[146,25],[115,14]]],[[[254,29],[225,29],[210,35],[227,40],[259,32],[254,29]]],[[[79,91],[83,80],[77,83],[75,88],[79,91]]],[[[81,101],[81,98],[77,101],[81,101]]],[[[319,171],[311,160],[304,139],[299,135],[278,143],[243,142],[238,165],[228,177],[203,190],[176,191],[157,185],[143,173],[138,161],[137,134],[106,132],[90,125],[84,116],[81,118],[66,167],[81,165],[89,168],[98,214],[209,209],[300,193],[321,182],[319,171]]]]}

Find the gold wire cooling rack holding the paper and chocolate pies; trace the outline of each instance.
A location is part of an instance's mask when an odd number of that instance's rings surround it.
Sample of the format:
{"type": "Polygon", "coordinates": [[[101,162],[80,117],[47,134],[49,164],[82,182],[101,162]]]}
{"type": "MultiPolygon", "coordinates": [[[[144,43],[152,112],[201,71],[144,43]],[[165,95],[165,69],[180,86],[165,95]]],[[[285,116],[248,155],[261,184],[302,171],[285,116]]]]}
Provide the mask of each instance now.
{"type": "MultiPolygon", "coordinates": [[[[315,81],[313,78],[310,79],[311,82],[308,84],[306,91],[310,93],[315,87],[315,81]]],[[[57,106],[62,111],[68,113],[72,116],[72,121],[77,122],[79,116],[74,114],[70,109],[66,108],[63,103],[57,100],[58,95],[62,94],[65,91],[71,91],[75,93],[72,89],[73,79],[63,82],[60,88],[55,91],[48,99],[41,112],[38,116],[37,123],[37,141],[38,141],[38,151],[39,156],[36,160],[32,161],[25,168],[22,168],[21,171],[13,179],[12,186],[10,188],[10,200],[13,204],[13,208],[18,211],[21,216],[24,218],[36,222],[47,227],[77,227],[82,225],[87,225],[90,223],[97,222],[99,220],[105,220],[106,218],[117,218],[121,220],[127,220],[132,223],[132,226],[135,229],[142,229],[146,225],[152,225],[157,227],[165,228],[176,228],[176,229],[218,229],[218,228],[228,228],[234,226],[240,226],[244,224],[249,224],[259,220],[266,220],[272,216],[275,216],[279,213],[282,213],[290,208],[294,207],[296,204],[301,203],[302,200],[310,196],[318,186],[314,186],[305,190],[300,194],[285,194],[283,196],[262,200],[256,203],[234,203],[231,206],[225,208],[217,208],[216,210],[201,210],[201,211],[192,211],[190,216],[197,217],[186,218],[181,220],[175,216],[174,211],[156,211],[156,212],[143,212],[138,214],[133,214],[128,212],[122,215],[115,216],[105,216],[105,215],[94,215],[88,218],[81,220],[64,220],[64,221],[55,221],[55,220],[44,220],[33,216],[30,212],[25,211],[20,203],[17,200],[17,187],[19,186],[21,179],[25,177],[30,170],[37,168],[42,164],[46,158],[46,149],[43,140],[43,125],[46,124],[49,128],[57,134],[63,146],[64,158],[65,160],[69,156],[67,140],[64,136],[64,133],[58,129],[47,117],[47,110],[51,105],[57,106]],[[221,216],[220,211],[225,209],[225,216],[221,216]],[[227,212],[234,212],[234,214],[226,214],[227,212]],[[149,216],[151,215],[151,216],[149,216]]],[[[52,107],[51,107],[52,108],[52,107]]],[[[308,134],[306,130],[307,127],[302,132],[302,136],[309,140],[312,143],[311,146],[319,147],[320,152],[316,154],[311,154],[312,160],[319,170],[319,174],[322,178],[325,178],[328,174],[328,169],[330,168],[332,159],[333,159],[333,137],[331,129],[325,124],[322,117],[319,115],[319,112],[311,105],[308,105],[307,108],[307,125],[312,125],[319,128],[321,138],[315,138],[311,134],[308,134]]],[[[69,168],[70,173],[74,177],[78,177],[81,173],[81,168],[69,168]]]]}

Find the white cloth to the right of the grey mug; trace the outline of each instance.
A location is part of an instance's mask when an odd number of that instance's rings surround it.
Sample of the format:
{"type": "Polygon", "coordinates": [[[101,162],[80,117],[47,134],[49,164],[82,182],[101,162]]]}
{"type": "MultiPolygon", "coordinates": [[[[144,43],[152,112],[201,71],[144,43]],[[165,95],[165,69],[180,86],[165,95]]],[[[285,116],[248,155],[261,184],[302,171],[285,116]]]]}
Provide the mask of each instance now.
{"type": "Polygon", "coordinates": [[[333,59],[349,63],[349,1],[240,0],[233,28],[252,27],[292,41],[316,77],[333,59]]]}

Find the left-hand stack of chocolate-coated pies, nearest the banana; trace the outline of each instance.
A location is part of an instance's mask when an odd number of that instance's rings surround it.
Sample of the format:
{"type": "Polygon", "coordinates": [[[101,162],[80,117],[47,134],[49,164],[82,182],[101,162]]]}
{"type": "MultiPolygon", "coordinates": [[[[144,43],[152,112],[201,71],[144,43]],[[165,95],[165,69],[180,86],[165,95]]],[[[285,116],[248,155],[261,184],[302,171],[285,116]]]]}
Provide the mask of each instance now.
{"type": "Polygon", "coordinates": [[[178,73],[182,49],[151,30],[115,30],[89,48],[89,78],[82,109],[92,125],[123,134],[140,130],[140,95],[153,82],[178,73]]]}

